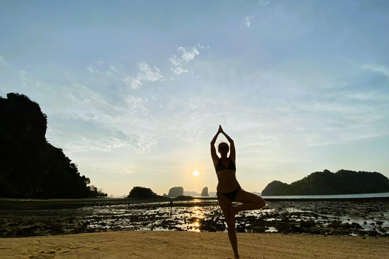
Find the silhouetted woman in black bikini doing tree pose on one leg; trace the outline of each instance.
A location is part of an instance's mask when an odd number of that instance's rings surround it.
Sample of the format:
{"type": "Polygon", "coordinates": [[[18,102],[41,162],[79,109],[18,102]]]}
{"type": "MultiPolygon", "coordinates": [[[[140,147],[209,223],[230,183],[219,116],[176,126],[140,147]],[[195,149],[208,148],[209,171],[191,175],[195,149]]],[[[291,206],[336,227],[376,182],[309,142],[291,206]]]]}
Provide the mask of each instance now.
{"type": "Polygon", "coordinates": [[[217,175],[217,198],[219,205],[223,211],[225,222],[227,223],[228,238],[231,243],[232,250],[234,250],[235,258],[238,259],[238,241],[237,233],[235,231],[235,215],[244,210],[261,209],[265,206],[265,200],[253,193],[246,192],[242,189],[236,178],[236,166],[235,166],[235,145],[234,141],[224,133],[221,125],[217,131],[215,137],[211,141],[211,156],[213,165],[215,166],[217,175]],[[220,158],[216,154],[215,143],[219,134],[223,134],[231,147],[229,157],[228,144],[222,142],[218,146],[220,158]],[[240,202],[238,206],[232,206],[232,202],[240,202]]]}

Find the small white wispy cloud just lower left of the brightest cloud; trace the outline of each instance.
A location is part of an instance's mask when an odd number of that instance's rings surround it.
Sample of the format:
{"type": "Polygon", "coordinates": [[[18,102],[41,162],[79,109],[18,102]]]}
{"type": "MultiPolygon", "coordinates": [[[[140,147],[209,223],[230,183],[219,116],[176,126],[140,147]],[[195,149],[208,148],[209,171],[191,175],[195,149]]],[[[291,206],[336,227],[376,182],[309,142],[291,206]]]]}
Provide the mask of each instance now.
{"type": "Polygon", "coordinates": [[[141,82],[142,80],[146,81],[161,81],[165,77],[161,74],[161,70],[157,67],[154,67],[156,71],[152,71],[149,65],[146,63],[140,63],[139,64],[139,70],[140,72],[137,74],[136,77],[134,76],[127,76],[124,75],[122,78],[122,81],[125,82],[130,88],[137,89],[140,87],[140,85],[143,85],[141,82]]]}

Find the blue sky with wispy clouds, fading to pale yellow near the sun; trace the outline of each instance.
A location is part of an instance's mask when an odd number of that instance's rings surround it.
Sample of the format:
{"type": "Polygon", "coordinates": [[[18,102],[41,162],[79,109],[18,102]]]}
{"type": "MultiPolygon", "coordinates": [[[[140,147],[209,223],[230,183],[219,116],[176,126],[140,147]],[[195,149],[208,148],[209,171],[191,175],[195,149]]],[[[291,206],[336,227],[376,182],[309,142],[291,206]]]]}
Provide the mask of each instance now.
{"type": "Polygon", "coordinates": [[[108,195],[216,191],[219,124],[246,191],[389,177],[388,28],[385,0],[0,0],[0,96],[37,102],[108,195]]]}

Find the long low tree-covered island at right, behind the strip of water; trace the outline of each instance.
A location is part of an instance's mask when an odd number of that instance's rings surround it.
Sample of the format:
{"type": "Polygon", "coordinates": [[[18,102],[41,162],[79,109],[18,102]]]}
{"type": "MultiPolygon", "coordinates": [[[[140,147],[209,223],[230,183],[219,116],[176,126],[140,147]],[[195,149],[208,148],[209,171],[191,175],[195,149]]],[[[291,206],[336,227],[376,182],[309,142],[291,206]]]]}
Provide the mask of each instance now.
{"type": "Polygon", "coordinates": [[[322,172],[313,172],[291,184],[273,181],[263,189],[262,195],[339,195],[381,192],[389,192],[389,179],[379,172],[341,169],[333,173],[325,169],[322,172]]]}

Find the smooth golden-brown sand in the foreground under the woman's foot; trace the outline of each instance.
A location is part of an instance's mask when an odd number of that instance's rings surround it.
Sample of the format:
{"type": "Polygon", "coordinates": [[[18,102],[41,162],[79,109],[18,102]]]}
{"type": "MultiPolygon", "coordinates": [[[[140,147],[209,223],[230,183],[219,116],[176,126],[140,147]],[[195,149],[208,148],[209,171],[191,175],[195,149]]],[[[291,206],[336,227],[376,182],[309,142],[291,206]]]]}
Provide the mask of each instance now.
{"type": "MultiPolygon", "coordinates": [[[[384,237],[238,233],[241,258],[387,258],[384,237]]],[[[226,233],[101,232],[3,238],[0,258],[231,258],[226,233]]],[[[232,256],[233,257],[233,256],[232,256]]]]}

